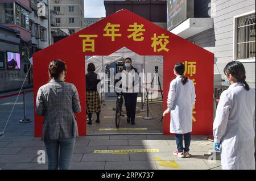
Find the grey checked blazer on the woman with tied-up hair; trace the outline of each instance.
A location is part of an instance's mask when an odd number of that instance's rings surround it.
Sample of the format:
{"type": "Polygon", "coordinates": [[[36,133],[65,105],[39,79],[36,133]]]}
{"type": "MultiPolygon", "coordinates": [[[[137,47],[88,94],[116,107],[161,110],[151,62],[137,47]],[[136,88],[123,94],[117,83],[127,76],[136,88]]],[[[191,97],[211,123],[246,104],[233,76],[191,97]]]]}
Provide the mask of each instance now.
{"type": "Polygon", "coordinates": [[[72,83],[51,79],[38,90],[36,115],[44,116],[42,140],[78,136],[76,116],[81,112],[79,94],[72,83]]]}

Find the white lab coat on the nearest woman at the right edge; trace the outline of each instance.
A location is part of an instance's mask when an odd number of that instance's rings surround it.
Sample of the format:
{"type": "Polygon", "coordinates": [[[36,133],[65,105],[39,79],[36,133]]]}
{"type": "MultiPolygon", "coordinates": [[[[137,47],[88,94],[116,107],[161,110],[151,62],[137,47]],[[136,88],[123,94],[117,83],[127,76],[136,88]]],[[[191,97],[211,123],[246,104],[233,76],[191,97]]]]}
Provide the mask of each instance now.
{"type": "Polygon", "coordinates": [[[225,170],[255,169],[255,90],[233,83],[222,92],[213,123],[214,142],[221,143],[225,170]]]}

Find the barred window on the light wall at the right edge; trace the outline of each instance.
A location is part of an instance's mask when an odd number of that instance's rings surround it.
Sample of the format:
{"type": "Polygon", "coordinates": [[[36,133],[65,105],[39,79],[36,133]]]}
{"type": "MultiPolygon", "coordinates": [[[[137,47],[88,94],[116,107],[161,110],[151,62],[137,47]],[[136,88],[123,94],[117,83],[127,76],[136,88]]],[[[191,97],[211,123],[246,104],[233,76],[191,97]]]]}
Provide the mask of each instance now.
{"type": "Polygon", "coordinates": [[[237,18],[237,59],[255,58],[255,14],[237,18]]]}

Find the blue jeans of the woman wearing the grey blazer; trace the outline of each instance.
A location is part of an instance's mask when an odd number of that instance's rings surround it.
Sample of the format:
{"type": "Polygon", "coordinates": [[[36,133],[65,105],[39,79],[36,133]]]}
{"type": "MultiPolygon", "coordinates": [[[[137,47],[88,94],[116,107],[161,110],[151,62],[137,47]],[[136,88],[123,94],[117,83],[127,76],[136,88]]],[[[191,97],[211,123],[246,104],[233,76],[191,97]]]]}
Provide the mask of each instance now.
{"type": "Polygon", "coordinates": [[[57,140],[45,140],[46,152],[48,156],[48,170],[67,170],[76,138],[59,138],[57,140]]]}

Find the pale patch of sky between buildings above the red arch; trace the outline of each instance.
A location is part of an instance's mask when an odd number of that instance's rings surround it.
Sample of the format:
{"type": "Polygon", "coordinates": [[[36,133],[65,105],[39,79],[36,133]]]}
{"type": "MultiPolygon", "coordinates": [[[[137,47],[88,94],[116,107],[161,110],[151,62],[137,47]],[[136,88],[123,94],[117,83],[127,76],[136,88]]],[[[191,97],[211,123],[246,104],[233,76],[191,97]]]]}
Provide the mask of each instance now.
{"type": "MultiPolygon", "coordinates": [[[[107,0],[109,1],[109,0],[107,0]]],[[[125,0],[119,0],[125,1],[125,0]]],[[[104,0],[84,0],[85,18],[101,18],[106,16],[104,0]]]]}

